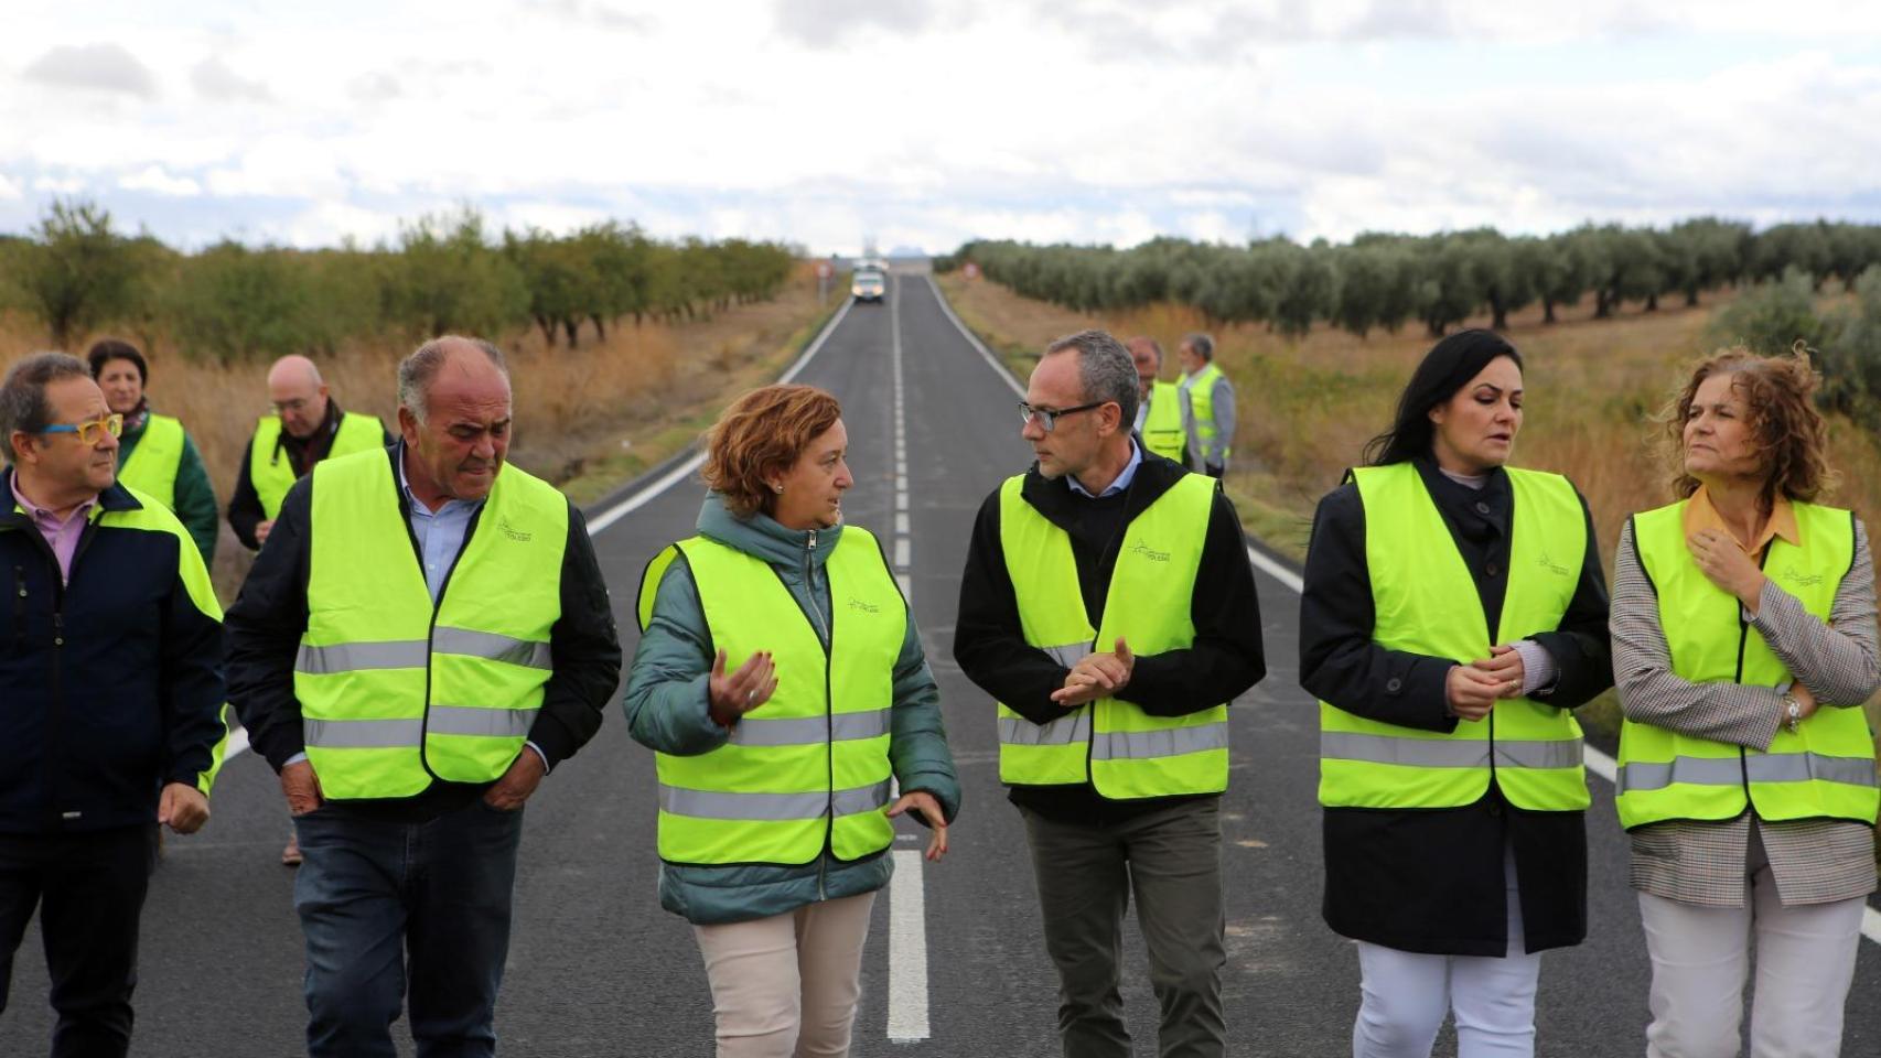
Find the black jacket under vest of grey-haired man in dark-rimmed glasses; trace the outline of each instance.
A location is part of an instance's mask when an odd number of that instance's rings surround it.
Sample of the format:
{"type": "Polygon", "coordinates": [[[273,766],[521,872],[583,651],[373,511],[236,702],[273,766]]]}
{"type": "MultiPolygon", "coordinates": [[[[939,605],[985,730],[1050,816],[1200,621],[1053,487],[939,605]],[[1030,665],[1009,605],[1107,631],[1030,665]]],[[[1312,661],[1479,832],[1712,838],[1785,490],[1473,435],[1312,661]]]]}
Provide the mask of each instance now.
{"type": "MultiPolygon", "coordinates": [[[[1093,628],[1104,620],[1110,575],[1117,566],[1123,530],[1159,496],[1170,490],[1183,468],[1149,451],[1136,468],[1130,487],[1117,496],[1089,498],[1059,479],[1046,479],[1035,464],[1020,496],[1051,524],[1070,536],[1078,564],[1078,590],[1093,628]]],[[[1232,701],[1266,675],[1260,646],[1260,599],[1255,573],[1247,564],[1247,539],[1234,504],[1215,489],[1209,509],[1202,568],[1191,601],[1194,645],[1138,656],[1130,684],[1117,695],[1151,716],[1187,716],[1232,701]]],[[[1108,650],[1108,643],[1097,645],[1108,650]]],[[[959,583],[959,618],[954,626],[954,660],[974,684],[1033,723],[1065,716],[1051,692],[1065,686],[1070,673],[1050,654],[1025,643],[1020,603],[1006,575],[1006,552],[999,541],[999,489],[980,506],[967,549],[967,569],[959,583]]],[[[1159,808],[1172,799],[1108,801],[1089,784],[1014,786],[1014,804],[1055,819],[1108,821],[1159,808]]]]}

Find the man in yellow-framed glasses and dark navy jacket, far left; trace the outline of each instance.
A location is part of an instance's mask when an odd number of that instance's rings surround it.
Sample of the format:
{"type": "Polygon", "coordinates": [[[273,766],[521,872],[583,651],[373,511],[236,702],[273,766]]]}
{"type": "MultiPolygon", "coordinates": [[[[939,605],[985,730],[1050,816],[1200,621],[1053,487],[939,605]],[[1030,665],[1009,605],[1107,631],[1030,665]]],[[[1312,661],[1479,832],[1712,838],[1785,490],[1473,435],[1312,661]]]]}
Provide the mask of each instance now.
{"type": "Polygon", "coordinates": [[[182,522],[117,483],[122,428],[77,357],[0,385],[0,1011],[38,910],[55,1056],[128,1050],[156,829],[209,819],[222,737],[222,609],[182,522]]]}

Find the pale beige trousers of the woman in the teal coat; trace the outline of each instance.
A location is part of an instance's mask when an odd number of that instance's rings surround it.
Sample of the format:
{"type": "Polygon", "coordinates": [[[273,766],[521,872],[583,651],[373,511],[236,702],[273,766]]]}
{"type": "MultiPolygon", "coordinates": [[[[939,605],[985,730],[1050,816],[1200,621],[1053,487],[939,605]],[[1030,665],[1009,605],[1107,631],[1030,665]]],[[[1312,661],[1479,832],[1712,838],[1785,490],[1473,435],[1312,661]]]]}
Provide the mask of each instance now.
{"type": "Polygon", "coordinates": [[[784,915],[692,926],[719,1020],[719,1058],[846,1058],[875,893],[784,915]]]}

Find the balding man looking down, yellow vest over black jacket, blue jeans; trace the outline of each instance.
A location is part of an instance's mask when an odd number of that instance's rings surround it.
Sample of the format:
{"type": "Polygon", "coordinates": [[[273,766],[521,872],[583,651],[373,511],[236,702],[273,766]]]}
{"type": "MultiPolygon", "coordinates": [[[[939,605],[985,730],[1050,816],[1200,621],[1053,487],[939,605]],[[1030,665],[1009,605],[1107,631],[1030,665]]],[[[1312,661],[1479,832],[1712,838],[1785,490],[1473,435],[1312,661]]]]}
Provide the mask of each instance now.
{"type": "Polygon", "coordinates": [[[502,353],[399,365],[397,447],[324,460],[229,611],[229,699],[307,857],[307,1050],[493,1054],[523,802],[621,677],[581,513],[504,457],[502,353]]]}

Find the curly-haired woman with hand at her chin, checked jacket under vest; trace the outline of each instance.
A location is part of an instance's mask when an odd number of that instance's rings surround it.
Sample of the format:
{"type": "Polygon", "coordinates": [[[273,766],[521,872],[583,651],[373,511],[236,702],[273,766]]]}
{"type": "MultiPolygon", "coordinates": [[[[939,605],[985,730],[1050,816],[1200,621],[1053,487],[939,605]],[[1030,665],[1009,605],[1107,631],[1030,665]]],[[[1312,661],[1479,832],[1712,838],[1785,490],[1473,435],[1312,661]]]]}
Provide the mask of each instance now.
{"type": "Polygon", "coordinates": [[[1620,821],[1652,955],[1648,1056],[1834,1056],[1875,889],[1868,532],[1823,506],[1806,355],[1712,355],[1670,404],[1678,502],[1614,558],[1620,821]]]}

